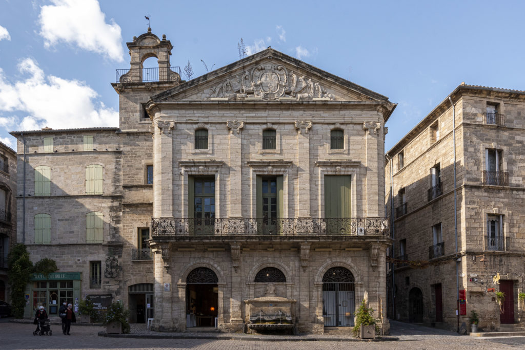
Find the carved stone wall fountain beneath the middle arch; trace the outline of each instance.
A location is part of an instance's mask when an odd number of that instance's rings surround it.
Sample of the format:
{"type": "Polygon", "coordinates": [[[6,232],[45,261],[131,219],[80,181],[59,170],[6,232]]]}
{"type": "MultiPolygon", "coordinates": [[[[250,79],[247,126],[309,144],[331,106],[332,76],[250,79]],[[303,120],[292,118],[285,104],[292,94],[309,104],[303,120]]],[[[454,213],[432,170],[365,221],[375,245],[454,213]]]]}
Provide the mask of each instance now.
{"type": "Polygon", "coordinates": [[[247,333],[295,333],[295,299],[278,297],[275,286],[264,297],[245,300],[247,333]]]}

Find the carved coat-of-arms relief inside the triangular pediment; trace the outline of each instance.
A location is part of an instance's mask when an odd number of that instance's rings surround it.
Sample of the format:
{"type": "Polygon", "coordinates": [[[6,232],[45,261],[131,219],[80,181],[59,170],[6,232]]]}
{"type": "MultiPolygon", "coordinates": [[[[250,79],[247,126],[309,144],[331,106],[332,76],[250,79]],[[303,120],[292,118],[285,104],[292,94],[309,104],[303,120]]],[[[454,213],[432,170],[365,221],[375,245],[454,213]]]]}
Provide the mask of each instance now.
{"type": "Polygon", "coordinates": [[[205,91],[211,98],[254,97],[261,100],[335,100],[319,82],[305,75],[288,71],[281,64],[258,64],[233,78],[228,78],[211,89],[205,91]]]}

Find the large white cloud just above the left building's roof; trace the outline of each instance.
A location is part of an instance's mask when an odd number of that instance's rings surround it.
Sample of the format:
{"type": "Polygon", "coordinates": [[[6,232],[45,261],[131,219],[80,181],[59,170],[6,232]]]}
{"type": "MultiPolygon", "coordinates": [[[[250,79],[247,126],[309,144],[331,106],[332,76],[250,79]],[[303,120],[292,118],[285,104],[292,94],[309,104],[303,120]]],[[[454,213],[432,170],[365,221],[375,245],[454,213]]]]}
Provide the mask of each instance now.
{"type": "MultiPolygon", "coordinates": [[[[45,75],[37,63],[26,58],[18,70],[27,79],[9,83],[0,69],[0,111],[27,114],[17,128],[35,130],[117,126],[118,112],[97,102],[98,94],[84,82],[45,75]]],[[[0,126],[2,125],[0,119],[0,126]]],[[[5,120],[8,126],[9,119],[5,120]]]]}

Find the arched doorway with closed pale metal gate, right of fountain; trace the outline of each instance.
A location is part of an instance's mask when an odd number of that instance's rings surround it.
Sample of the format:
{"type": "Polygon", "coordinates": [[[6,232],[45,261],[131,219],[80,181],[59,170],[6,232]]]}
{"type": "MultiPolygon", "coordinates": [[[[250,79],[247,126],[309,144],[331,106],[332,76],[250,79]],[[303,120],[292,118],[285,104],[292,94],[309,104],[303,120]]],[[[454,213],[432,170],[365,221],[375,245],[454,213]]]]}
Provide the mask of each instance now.
{"type": "Polygon", "coordinates": [[[354,312],[354,276],[344,267],[332,267],[323,276],[324,326],[352,327],[354,312]]]}

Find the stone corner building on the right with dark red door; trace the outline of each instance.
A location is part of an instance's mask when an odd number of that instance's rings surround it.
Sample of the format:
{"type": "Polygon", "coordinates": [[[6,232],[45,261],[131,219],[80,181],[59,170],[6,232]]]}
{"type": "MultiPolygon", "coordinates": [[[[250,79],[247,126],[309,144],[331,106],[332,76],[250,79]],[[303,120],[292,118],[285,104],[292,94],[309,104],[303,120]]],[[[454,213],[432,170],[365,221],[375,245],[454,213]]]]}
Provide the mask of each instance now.
{"type": "Polygon", "coordinates": [[[451,329],[471,311],[484,330],[523,326],[525,92],[462,83],[449,97],[386,154],[388,312],[451,329]]]}

